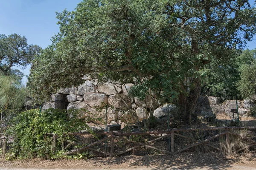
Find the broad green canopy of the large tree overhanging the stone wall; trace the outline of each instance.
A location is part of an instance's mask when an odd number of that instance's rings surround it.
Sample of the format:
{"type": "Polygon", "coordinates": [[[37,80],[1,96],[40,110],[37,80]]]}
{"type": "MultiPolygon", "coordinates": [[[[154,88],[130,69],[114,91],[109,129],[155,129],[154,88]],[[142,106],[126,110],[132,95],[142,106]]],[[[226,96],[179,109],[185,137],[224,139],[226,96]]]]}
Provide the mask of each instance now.
{"type": "Polygon", "coordinates": [[[193,105],[206,66],[228,62],[256,31],[247,0],[84,0],[57,18],[60,32],[29,78],[43,96],[94,73],[135,79],[135,96],[150,89],[193,105]]]}

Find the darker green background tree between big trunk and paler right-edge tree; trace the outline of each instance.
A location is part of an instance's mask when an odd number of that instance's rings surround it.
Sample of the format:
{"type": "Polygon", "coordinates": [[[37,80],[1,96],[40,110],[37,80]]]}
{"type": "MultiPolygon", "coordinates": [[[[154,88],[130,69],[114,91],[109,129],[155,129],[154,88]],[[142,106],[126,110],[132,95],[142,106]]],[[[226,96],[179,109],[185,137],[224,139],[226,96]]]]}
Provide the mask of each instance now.
{"type": "Polygon", "coordinates": [[[201,94],[218,96],[221,101],[241,99],[237,89],[240,80],[238,57],[242,59],[238,50],[230,51],[227,61],[212,61],[207,65],[204,69],[205,74],[202,75],[201,94]]]}

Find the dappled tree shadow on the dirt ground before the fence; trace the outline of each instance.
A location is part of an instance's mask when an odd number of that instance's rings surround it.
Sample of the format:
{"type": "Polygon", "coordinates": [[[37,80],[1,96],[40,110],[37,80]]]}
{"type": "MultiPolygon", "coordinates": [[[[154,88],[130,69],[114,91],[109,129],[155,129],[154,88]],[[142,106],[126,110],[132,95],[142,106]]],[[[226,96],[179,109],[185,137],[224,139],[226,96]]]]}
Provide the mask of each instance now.
{"type": "MultiPolygon", "coordinates": [[[[255,154],[251,160],[255,159],[255,154]]],[[[98,160],[107,165],[126,164],[131,168],[150,168],[152,170],[190,170],[207,168],[209,170],[226,170],[239,158],[228,158],[223,153],[185,152],[173,155],[144,155],[138,156],[136,152],[127,156],[98,160]],[[104,162],[103,162],[104,161],[104,162]]]]}

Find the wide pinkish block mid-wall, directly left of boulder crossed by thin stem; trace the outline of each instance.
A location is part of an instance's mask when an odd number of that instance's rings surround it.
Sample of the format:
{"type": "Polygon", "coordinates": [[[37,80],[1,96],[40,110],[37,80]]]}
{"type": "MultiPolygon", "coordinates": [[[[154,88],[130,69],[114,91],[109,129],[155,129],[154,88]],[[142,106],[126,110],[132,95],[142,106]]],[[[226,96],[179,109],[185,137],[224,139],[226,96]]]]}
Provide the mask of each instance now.
{"type": "Polygon", "coordinates": [[[100,107],[108,103],[108,96],[105,94],[84,94],[84,102],[90,108],[100,107]]]}

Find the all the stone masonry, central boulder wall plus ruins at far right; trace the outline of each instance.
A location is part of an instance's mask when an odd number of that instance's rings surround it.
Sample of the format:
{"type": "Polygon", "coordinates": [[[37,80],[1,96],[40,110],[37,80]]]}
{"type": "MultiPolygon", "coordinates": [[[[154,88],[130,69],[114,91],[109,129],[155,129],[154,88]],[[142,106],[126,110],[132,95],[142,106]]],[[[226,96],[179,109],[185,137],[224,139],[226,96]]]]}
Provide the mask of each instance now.
{"type": "MultiPolygon", "coordinates": [[[[105,106],[107,105],[107,122],[112,124],[121,122],[134,122],[129,109],[132,109],[140,121],[149,115],[149,108],[152,108],[152,99],[148,96],[144,101],[129,95],[129,90],[133,83],[123,83],[120,81],[99,82],[99,79],[84,76],[84,83],[78,87],[59,89],[56,94],[52,94],[49,102],[45,103],[42,110],[48,108],[84,109],[84,116],[91,116],[91,122],[104,124],[105,106]],[[125,101],[125,102],[124,102],[125,101]],[[102,119],[102,120],[100,120],[102,119]]],[[[255,99],[238,101],[239,114],[246,116],[246,113],[254,105],[255,99]]],[[[155,109],[153,116],[157,119],[167,117],[167,104],[155,109]]],[[[196,113],[204,119],[213,120],[215,115],[226,113],[230,115],[230,109],[236,108],[236,100],[220,102],[218,97],[200,96],[198,99],[196,113]]],[[[179,113],[176,105],[169,104],[169,115],[179,113]]]]}

